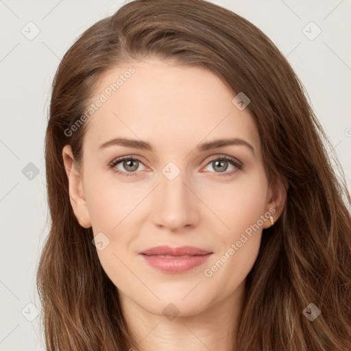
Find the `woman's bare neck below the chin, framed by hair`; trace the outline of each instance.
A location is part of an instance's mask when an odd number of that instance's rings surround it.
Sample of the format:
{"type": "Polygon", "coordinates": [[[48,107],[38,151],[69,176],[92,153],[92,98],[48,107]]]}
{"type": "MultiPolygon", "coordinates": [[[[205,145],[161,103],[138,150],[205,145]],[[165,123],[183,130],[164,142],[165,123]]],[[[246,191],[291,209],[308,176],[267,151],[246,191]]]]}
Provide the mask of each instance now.
{"type": "MultiPolygon", "coordinates": [[[[140,351],[229,351],[242,305],[243,284],[225,300],[209,302],[196,315],[156,315],[119,291],[125,320],[140,351]]],[[[167,304],[165,304],[167,306],[167,304]]],[[[169,310],[172,311],[169,307],[169,310]]],[[[176,314],[176,313],[175,313],[176,314]]]]}

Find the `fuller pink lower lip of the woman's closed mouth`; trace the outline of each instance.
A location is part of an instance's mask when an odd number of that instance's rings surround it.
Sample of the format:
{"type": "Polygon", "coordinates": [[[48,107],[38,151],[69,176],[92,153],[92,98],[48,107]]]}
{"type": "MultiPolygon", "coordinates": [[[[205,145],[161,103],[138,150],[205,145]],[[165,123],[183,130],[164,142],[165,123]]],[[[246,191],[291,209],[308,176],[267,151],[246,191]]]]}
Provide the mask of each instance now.
{"type": "Polygon", "coordinates": [[[147,256],[142,254],[145,261],[152,267],[164,271],[167,273],[178,274],[184,271],[189,271],[199,265],[205,263],[211,254],[188,256],[188,257],[177,257],[165,258],[160,256],[147,256]]]}

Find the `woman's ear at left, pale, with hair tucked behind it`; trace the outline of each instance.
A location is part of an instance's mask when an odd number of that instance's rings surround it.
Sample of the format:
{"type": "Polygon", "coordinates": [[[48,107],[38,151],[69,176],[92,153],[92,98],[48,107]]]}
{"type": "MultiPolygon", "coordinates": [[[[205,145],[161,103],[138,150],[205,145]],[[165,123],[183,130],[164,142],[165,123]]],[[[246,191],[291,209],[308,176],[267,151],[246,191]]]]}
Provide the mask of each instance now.
{"type": "Polygon", "coordinates": [[[75,170],[71,145],[64,146],[62,149],[62,158],[64,169],[66,170],[66,175],[69,180],[69,199],[71,201],[73,213],[83,228],[90,228],[90,216],[84,197],[83,181],[80,174],[75,170]]]}

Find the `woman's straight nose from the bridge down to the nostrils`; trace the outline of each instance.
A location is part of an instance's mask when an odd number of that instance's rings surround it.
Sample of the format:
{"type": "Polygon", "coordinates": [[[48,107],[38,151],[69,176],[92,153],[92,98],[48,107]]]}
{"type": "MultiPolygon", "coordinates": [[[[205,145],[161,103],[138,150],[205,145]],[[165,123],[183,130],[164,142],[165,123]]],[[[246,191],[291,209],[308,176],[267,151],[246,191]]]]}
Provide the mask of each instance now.
{"type": "Polygon", "coordinates": [[[185,169],[181,169],[174,162],[168,162],[160,174],[157,205],[153,215],[156,225],[175,230],[196,223],[198,204],[184,183],[187,186],[190,183],[185,169]]]}

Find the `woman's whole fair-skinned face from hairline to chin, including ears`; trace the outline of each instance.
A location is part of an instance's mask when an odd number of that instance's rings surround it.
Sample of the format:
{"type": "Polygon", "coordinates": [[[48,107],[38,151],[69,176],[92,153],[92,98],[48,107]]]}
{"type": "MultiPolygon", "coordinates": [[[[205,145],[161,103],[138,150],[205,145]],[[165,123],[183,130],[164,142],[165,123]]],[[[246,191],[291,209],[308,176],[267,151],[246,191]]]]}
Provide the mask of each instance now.
{"type": "Polygon", "coordinates": [[[96,87],[92,101],[105,101],[86,121],[80,174],[63,150],[71,204],[93,228],[102,267],[151,313],[172,303],[195,315],[239,295],[269,209],[277,218],[254,119],[233,98],[206,69],[128,62],[96,87]]]}

